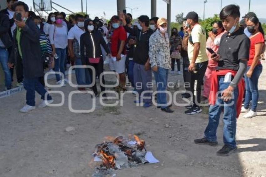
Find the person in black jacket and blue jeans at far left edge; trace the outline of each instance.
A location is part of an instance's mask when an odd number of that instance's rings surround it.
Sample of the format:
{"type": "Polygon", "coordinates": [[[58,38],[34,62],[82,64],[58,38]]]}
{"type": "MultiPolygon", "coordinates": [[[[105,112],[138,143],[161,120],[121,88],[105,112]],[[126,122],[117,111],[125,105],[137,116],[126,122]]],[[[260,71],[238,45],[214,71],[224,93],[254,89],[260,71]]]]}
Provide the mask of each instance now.
{"type": "MultiPolygon", "coordinates": [[[[1,8],[1,6],[0,6],[1,8]]],[[[11,89],[11,73],[8,68],[8,48],[13,45],[8,35],[10,23],[7,15],[0,13],[0,63],[5,73],[6,90],[11,89]]]]}

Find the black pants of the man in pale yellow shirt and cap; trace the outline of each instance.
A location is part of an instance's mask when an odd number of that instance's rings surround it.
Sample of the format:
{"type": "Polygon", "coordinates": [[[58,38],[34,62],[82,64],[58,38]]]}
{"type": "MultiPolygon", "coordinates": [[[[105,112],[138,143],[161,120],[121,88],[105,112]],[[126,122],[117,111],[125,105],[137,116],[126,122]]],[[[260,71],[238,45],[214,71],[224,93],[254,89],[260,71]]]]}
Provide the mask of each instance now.
{"type": "Polygon", "coordinates": [[[190,88],[193,94],[193,103],[195,104],[195,95],[194,95],[194,85],[195,80],[197,80],[197,103],[200,103],[201,99],[201,85],[203,81],[204,74],[206,72],[208,66],[208,61],[202,62],[202,63],[196,63],[196,71],[197,73],[191,72],[191,82],[190,82],[190,88]]]}

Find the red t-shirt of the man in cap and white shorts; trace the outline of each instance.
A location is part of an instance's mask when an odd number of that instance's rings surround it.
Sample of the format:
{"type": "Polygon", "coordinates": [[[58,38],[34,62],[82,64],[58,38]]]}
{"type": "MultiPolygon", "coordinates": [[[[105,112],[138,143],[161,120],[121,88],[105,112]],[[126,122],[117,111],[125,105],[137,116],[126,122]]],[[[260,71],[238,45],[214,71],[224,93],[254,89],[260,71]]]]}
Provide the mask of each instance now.
{"type": "Polygon", "coordinates": [[[126,41],[126,32],[123,26],[114,29],[111,41],[111,53],[113,57],[116,57],[120,47],[120,41],[126,41]]]}

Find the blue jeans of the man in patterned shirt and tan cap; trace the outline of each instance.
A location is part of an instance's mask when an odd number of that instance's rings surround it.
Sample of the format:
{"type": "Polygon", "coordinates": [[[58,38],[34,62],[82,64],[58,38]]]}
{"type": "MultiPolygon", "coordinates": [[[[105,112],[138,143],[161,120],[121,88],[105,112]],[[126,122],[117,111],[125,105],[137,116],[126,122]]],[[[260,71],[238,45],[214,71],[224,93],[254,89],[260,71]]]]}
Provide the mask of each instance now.
{"type": "MultiPolygon", "coordinates": [[[[157,91],[166,91],[167,79],[168,79],[168,69],[158,67],[157,72],[153,72],[157,91]]],[[[166,93],[157,93],[157,104],[160,104],[161,108],[167,107],[166,93]]]]}

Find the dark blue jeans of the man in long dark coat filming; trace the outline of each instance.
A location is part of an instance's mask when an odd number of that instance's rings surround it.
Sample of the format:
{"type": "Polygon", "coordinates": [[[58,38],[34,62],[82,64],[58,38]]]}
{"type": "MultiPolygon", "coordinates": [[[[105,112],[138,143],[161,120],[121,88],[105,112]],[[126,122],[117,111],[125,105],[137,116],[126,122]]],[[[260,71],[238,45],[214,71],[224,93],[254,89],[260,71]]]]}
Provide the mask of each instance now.
{"type": "Polygon", "coordinates": [[[43,100],[52,99],[49,94],[47,95],[47,98],[44,97],[47,90],[44,89],[44,86],[40,83],[39,78],[24,79],[23,85],[26,90],[26,104],[29,106],[35,106],[35,91],[41,95],[41,99],[43,100]]]}

